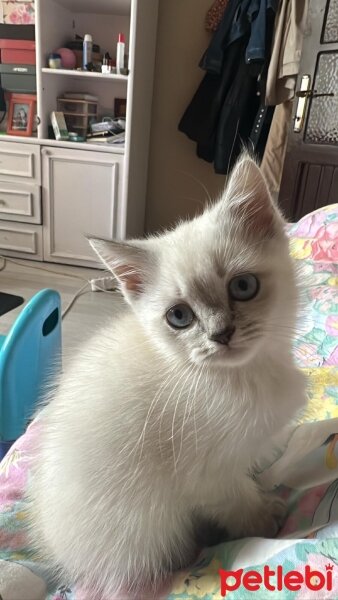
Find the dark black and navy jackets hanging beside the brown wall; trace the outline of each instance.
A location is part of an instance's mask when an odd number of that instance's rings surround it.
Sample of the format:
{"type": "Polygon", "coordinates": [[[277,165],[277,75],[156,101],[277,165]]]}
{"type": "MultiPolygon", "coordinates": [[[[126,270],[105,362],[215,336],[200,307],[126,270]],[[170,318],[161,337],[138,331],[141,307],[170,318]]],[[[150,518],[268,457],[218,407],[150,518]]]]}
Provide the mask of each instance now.
{"type": "Polygon", "coordinates": [[[200,67],[206,71],[179,130],[197,142],[197,155],[229,166],[250,140],[265,97],[271,32],[278,0],[229,0],[200,67]]]}

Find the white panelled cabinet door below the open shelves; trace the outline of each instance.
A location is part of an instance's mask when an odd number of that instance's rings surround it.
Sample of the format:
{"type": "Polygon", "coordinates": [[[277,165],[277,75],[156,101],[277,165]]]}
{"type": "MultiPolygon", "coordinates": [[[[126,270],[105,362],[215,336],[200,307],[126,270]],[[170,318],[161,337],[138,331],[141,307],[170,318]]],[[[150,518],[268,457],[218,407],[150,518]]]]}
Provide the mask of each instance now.
{"type": "Polygon", "coordinates": [[[122,168],[111,153],[42,149],[45,260],[98,266],[85,236],[116,236],[122,168]]]}

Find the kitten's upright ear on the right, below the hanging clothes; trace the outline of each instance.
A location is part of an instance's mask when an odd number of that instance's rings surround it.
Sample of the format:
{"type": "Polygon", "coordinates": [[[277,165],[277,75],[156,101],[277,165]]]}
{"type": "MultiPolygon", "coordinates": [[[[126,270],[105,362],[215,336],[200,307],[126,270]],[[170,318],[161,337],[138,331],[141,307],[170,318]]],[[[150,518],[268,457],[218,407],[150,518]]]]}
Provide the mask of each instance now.
{"type": "Polygon", "coordinates": [[[264,176],[248,155],[235,165],[225,191],[225,209],[254,234],[273,235],[283,219],[274,205],[264,176]]]}

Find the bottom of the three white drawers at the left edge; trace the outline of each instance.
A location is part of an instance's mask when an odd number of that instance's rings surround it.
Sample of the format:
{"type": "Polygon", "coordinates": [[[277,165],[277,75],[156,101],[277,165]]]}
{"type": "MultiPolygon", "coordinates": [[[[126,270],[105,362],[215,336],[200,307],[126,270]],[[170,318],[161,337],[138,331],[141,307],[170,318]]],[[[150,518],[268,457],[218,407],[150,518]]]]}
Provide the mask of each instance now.
{"type": "Polygon", "coordinates": [[[42,260],[42,227],[0,221],[0,254],[42,260]]]}

